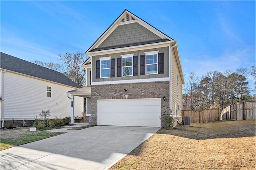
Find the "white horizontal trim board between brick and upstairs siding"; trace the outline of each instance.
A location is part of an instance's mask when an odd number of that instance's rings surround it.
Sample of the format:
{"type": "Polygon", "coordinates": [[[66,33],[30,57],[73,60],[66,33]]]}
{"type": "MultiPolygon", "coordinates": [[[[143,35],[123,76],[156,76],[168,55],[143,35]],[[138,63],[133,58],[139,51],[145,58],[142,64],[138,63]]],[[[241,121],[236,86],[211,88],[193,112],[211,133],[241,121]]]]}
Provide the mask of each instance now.
{"type": "Polygon", "coordinates": [[[110,85],[110,84],[127,84],[127,83],[147,83],[157,81],[170,81],[169,77],[154,78],[154,79],[133,79],[133,80],[116,80],[116,81],[98,81],[92,82],[91,85],[110,85]]]}

